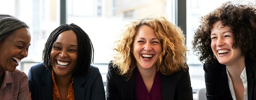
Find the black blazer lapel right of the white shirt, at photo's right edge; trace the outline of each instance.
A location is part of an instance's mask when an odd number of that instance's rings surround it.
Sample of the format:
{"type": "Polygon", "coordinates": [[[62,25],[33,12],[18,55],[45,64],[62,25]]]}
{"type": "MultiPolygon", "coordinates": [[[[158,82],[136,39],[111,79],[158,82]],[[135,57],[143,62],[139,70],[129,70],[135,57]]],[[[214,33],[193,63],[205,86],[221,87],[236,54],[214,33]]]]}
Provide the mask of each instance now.
{"type": "MultiPolygon", "coordinates": [[[[245,67],[246,67],[246,77],[247,77],[247,89],[248,89],[248,100],[253,100],[253,85],[254,78],[253,78],[253,71],[255,73],[256,62],[253,60],[247,59],[245,60],[245,67]]],[[[254,75],[255,76],[255,75],[254,75]]],[[[255,99],[255,98],[254,98],[255,99]]]]}

